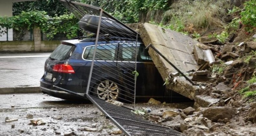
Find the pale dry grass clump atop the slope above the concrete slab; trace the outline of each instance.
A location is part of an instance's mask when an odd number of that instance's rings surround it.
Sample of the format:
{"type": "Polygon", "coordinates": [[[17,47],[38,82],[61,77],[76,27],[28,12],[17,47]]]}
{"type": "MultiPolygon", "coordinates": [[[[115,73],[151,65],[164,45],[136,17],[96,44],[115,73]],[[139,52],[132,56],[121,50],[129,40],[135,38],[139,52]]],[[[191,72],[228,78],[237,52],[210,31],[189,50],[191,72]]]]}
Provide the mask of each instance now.
{"type": "Polygon", "coordinates": [[[221,18],[227,15],[224,6],[228,6],[227,1],[180,0],[170,6],[162,21],[183,27],[192,24],[196,29],[216,29],[224,25],[221,18]]]}

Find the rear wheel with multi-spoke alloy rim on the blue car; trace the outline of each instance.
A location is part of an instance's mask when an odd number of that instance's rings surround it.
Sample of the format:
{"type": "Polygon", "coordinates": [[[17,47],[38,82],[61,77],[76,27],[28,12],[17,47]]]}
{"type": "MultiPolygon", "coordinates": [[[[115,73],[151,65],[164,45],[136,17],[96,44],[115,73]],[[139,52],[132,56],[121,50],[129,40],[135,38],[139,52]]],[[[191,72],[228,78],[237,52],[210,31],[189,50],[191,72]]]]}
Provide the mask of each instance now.
{"type": "Polygon", "coordinates": [[[119,100],[121,96],[120,85],[111,80],[103,80],[94,86],[94,96],[103,100],[119,100]]]}

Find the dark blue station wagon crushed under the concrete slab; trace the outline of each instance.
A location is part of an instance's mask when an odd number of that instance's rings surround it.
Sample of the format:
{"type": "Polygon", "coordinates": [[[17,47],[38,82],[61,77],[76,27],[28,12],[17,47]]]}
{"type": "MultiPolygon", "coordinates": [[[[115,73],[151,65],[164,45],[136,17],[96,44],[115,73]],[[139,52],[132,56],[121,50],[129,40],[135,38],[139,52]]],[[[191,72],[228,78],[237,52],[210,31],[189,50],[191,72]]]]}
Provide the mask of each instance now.
{"type": "MultiPolygon", "coordinates": [[[[79,99],[77,96],[73,96],[69,93],[66,93],[62,90],[58,90],[53,88],[53,85],[59,86],[61,88],[76,92],[78,94],[84,94],[87,88],[88,76],[90,72],[90,67],[93,58],[93,51],[95,48],[95,40],[94,37],[87,37],[85,39],[74,39],[74,40],[64,40],[61,41],[61,44],[52,52],[50,57],[46,60],[44,66],[44,75],[40,81],[40,89],[44,94],[48,94],[50,96],[67,99],[67,100],[77,100],[79,99]]],[[[142,42],[137,42],[137,46],[135,41],[122,41],[118,39],[108,40],[107,38],[104,41],[98,42],[97,48],[101,52],[96,52],[97,62],[94,64],[97,65],[101,60],[105,61],[115,61],[117,60],[129,60],[129,62],[134,62],[134,58],[132,55],[137,50],[137,72],[139,76],[136,81],[136,98],[151,98],[151,97],[163,97],[165,95],[165,87],[163,86],[164,82],[161,78],[155,64],[151,60],[148,52],[145,50],[145,45],[142,42]],[[122,46],[120,46],[122,45],[122,46]],[[115,50],[120,50],[120,47],[129,46],[129,49],[123,49],[121,56],[116,56],[115,50]],[[135,49],[137,48],[137,49],[135,49]],[[111,51],[113,50],[113,51],[111,51]],[[112,53],[111,53],[112,52],[112,53]],[[105,57],[97,57],[97,55],[104,55],[105,57]],[[125,55],[127,54],[127,55],[125,55]],[[127,57],[131,56],[131,57],[127,57]],[[116,59],[117,58],[117,59],[116,59]]],[[[108,67],[113,67],[112,65],[108,65],[108,67]]],[[[125,68],[122,71],[124,74],[126,73],[125,68]]],[[[108,78],[106,78],[108,79],[108,78]]],[[[121,91],[121,86],[111,82],[112,79],[99,82],[98,85],[94,86],[97,88],[95,91],[96,96],[102,99],[106,99],[106,97],[102,97],[101,95],[103,91],[108,91],[113,96],[118,96],[119,91],[121,91]],[[109,87],[108,85],[115,86],[109,87]],[[102,87],[104,86],[104,87],[102,87]],[[120,88],[120,90],[118,89],[120,88]],[[100,90],[100,91],[99,91],[100,90]],[[101,92],[102,91],[102,92],[101,92]]],[[[99,79],[102,80],[102,79],[99,79]]],[[[97,80],[95,80],[97,82],[97,80]]]]}

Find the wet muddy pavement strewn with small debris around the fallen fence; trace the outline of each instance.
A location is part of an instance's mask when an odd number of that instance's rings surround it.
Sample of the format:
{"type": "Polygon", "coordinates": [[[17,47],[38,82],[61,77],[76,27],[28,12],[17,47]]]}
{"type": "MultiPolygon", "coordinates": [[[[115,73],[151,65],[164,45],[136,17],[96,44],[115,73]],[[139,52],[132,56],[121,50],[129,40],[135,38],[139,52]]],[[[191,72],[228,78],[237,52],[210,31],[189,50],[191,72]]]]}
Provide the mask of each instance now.
{"type": "MultiPolygon", "coordinates": [[[[99,110],[89,102],[71,102],[48,95],[7,94],[0,95],[0,136],[14,135],[75,135],[97,136],[114,135],[118,128],[105,119],[99,110]],[[33,119],[27,118],[28,114],[33,119]],[[5,122],[6,117],[18,119],[5,122]],[[30,125],[30,120],[42,119],[45,125],[30,125]],[[15,125],[12,128],[12,125],[15,125]],[[85,130],[96,128],[95,131],[85,130]]],[[[153,111],[166,108],[184,109],[193,103],[179,104],[137,104],[137,108],[150,107],[153,111]]],[[[117,136],[120,134],[117,134],[117,136]]],[[[122,135],[122,134],[121,134],[122,135]]]]}

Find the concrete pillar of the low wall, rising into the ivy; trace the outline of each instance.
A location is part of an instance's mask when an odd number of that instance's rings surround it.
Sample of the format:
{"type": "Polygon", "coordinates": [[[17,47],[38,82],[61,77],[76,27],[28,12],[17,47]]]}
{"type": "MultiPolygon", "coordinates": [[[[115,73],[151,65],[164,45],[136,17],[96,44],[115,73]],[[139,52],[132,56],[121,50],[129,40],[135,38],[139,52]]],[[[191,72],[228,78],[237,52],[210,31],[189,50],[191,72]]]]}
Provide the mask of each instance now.
{"type": "Polygon", "coordinates": [[[41,51],[41,30],[34,24],[33,27],[34,51],[41,51]]]}

